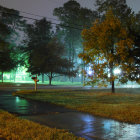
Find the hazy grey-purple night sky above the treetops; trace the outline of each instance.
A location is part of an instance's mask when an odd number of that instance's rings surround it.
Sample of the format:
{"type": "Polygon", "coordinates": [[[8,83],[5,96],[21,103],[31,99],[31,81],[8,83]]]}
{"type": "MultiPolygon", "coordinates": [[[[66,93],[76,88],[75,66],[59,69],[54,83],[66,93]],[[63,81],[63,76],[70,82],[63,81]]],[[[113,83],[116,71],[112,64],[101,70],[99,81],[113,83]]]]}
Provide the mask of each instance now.
{"type": "MultiPolygon", "coordinates": [[[[53,9],[68,0],[0,0],[0,5],[33,14],[52,17],[53,9]]],[[[77,0],[83,7],[94,8],[95,0],[77,0]]],[[[140,11],[140,0],[127,0],[135,11],[140,11]]],[[[54,18],[54,17],[53,17],[54,18]]]]}

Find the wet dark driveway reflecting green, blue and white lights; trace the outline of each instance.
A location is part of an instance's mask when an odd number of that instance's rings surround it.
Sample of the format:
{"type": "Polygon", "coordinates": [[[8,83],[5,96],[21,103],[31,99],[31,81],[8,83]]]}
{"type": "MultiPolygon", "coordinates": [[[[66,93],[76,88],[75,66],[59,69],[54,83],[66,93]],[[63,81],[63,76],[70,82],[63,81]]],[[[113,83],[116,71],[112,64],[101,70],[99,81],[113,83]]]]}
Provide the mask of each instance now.
{"type": "Polygon", "coordinates": [[[50,127],[67,129],[87,140],[140,140],[140,125],[94,117],[50,103],[12,96],[0,91],[0,109],[50,127]]]}

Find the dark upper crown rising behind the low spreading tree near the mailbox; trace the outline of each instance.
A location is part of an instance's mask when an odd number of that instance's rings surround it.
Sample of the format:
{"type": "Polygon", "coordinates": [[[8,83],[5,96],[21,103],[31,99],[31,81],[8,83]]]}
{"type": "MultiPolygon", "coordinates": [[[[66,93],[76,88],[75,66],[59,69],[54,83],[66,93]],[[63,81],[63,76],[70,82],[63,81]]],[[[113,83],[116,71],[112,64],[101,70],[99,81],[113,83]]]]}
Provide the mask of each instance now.
{"type": "Polygon", "coordinates": [[[49,42],[52,35],[52,26],[45,18],[27,25],[27,50],[32,51],[38,46],[49,42]]]}

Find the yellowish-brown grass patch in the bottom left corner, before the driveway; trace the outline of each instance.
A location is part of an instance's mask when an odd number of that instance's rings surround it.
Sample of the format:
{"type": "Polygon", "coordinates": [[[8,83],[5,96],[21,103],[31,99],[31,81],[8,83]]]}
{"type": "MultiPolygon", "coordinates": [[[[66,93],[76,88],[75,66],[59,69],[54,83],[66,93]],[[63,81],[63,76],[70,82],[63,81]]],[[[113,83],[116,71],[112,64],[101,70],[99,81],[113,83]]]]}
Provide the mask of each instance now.
{"type": "Polygon", "coordinates": [[[17,118],[0,110],[0,139],[3,140],[84,140],[72,133],[17,118]]]}

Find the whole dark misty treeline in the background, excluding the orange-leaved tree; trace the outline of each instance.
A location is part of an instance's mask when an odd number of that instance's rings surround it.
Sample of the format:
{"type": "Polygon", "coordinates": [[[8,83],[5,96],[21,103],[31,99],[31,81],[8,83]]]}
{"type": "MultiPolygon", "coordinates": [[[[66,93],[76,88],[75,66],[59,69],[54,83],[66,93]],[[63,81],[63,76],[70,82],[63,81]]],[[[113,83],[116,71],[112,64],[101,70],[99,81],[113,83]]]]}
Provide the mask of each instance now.
{"type": "MultiPolygon", "coordinates": [[[[135,43],[131,55],[137,69],[131,72],[129,79],[138,82],[140,13],[135,14],[125,0],[96,0],[94,10],[82,7],[76,0],[69,0],[62,7],[54,9],[53,14],[59,19],[55,28],[53,22],[46,18],[29,24],[28,19],[21,16],[19,11],[0,6],[2,75],[10,71],[16,74],[17,68],[24,66],[31,75],[41,75],[42,81],[47,76],[49,84],[53,78],[62,75],[68,78],[79,77],[87,69],[85,62],[78,57],[84,51],[81,32],[89,29],[97,19],[102,22],[109,9],[120,19],[135,43]]],[[[84,82],[83,74],[80,78],[84,82]]]]}

